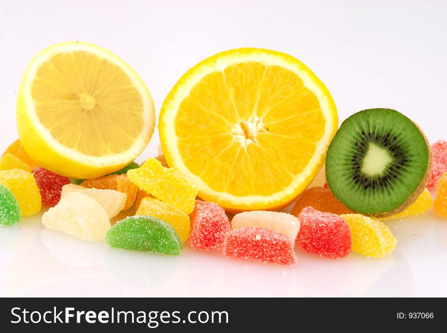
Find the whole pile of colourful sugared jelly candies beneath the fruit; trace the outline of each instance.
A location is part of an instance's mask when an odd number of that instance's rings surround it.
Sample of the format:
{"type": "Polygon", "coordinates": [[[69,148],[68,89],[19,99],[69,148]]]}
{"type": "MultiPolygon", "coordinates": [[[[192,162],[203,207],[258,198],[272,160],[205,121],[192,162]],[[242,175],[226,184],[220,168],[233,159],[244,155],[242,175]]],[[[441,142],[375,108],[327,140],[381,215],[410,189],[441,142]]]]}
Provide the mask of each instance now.
{"type": "Polygon", "coordinates": [[[0,157],[0,226],[15,225],[47,206],[46,228],[124,250],[180,255],[188,246],[280,265],[295,264],[299,252],[329,259],[352,252],[381,258],[397,244],[387,220],[425,214],[432,207],[447,217],[447,141],[435,142],[431,150],[427,189],[396,215],[358,214],[325,183],[306,189],[290,214],[246,211],[229,219],[216,203],[200,200],[194,184],[170,168],[163,155],[99,178],[70,179],[39,166],[16,140],[0,157]]]}

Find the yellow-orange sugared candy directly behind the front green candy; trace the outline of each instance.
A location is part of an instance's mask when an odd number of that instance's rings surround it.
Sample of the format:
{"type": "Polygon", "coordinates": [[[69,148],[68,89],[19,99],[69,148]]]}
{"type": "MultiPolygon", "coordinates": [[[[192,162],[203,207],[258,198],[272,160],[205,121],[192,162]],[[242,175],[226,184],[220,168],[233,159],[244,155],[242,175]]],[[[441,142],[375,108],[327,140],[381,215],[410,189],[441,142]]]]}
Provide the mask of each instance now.
{"type": "Polygon", "coordinates": [[[155,198],[143,198],[136,215],[146,215],[158,217],[174,227],[182,242],[188,239],[191,224],[188,214],[182,212],[166,202],[155,198]]]}

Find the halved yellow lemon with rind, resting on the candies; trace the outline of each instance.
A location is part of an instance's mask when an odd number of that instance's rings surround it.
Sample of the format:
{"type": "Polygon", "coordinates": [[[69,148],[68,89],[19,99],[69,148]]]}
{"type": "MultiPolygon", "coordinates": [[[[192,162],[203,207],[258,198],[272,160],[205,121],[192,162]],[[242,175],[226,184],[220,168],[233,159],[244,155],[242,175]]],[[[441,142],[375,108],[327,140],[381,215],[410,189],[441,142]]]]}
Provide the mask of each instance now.
{"type": "Polygon", "coordinates": [[[155,126],[151,95],[122,59],[67,42],[30,62],[17,97],[17,128],[39,165],[71,178],[119,170],[144,150],[155,126]]]}

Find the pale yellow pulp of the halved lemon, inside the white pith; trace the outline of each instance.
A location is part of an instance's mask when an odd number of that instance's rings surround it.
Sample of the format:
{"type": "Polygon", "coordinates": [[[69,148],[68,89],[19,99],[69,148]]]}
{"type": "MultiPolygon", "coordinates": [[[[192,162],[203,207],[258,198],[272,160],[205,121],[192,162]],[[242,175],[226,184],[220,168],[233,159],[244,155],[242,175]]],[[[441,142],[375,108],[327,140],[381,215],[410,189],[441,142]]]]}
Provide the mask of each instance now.
{"type": "Polygon", "coordinates": [[[82,154],[125,151],[142,130],[140,93],[120,68],[95,54],[54,55],[39,68],[31,89],[41,124],[82,154]]]}

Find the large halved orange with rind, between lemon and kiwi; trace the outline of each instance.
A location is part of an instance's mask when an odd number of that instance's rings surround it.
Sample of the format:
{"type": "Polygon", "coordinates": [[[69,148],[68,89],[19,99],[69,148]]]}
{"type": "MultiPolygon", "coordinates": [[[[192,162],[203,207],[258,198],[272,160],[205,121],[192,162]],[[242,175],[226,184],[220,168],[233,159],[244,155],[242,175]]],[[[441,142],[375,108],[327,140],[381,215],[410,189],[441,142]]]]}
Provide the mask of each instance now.
{"type": "Polygon", "coordinates": [[[323,83],[292,56],[235,49],[191,68],[163,103],[168,164],[228,211],[279,209],[321,169],[338,128],[323,83]]]}

